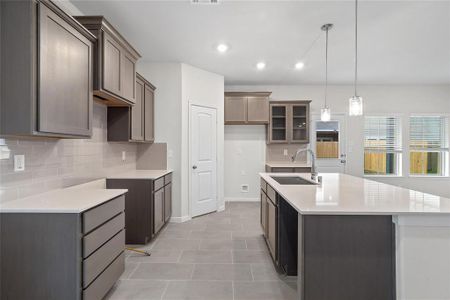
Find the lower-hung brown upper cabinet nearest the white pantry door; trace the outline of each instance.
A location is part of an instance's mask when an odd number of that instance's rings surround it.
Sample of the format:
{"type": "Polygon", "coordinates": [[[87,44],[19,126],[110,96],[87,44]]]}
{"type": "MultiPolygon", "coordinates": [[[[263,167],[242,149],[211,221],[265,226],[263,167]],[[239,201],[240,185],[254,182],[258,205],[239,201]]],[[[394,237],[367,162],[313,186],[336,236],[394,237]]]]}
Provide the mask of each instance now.
{"type": "Polygon", "coordinates": [[[154,92],[155,87],[136,74],[136,101],[131,107],[108,107],[108,141],[154,141],[154,92]]]}

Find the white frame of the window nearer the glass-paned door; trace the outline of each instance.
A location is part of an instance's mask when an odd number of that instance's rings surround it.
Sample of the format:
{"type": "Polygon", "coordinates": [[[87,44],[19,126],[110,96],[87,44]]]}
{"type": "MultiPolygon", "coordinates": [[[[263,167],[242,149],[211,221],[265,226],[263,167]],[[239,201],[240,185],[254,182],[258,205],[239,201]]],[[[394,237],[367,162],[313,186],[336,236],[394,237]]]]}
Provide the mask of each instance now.
{"type": "Polygon", "coordinates": [[[363,121],[363,177],[383,177],[383,178],[395,178],[395,177],[403,177],[403,159],[404,159],[404,147],[403,147],[403,137],[404,137],[404,133],[403,133],[403,115],[402,114],[397,114],[397,113],[385,113],[385,114],[366,114],[364,116],[364,121],[363,121]],[[376,150],[376,149],[370,149],[370,148],[366,148],[365,146],[365,141],[366,141],[366,118],[370,118],[370,117],[379,117],[379,118],[396,118],[397,119],[397,125],[398,125],[398,134],[399,136],[396,137],[396,139],[399,142],[399,149],[398,150],[376,150]],[[365,154],[366,151],[368,152],[372,152],[372,153],[394,153],[396,156],[396,165],[394,167],[395,172],[393,174],[366,174],[365,173],[365,154]]]}

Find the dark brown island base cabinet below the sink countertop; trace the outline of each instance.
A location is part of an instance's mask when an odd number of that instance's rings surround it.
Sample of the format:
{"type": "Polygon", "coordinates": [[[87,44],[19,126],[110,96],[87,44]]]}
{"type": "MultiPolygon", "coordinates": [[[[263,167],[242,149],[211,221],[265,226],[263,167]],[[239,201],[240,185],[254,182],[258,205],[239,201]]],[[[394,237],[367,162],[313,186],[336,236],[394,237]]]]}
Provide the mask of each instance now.
{"type": "Polygon", "coordinates": [[[261,224],[277,271],[298,276],[299,299],[396,299],[392,216],[303,215],[262,180],[261,224]]]}

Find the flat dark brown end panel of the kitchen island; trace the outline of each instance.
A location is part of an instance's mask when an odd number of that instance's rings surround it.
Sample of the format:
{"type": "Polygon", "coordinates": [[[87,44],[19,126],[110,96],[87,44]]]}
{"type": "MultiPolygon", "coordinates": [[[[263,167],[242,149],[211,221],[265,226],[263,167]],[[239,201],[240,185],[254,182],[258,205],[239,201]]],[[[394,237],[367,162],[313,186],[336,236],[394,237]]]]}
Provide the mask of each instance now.
{"type": "Polygon", "coordinates": [[[299,239],[301,299],[396,299],[391,216],[304,215],[299,239]]]}

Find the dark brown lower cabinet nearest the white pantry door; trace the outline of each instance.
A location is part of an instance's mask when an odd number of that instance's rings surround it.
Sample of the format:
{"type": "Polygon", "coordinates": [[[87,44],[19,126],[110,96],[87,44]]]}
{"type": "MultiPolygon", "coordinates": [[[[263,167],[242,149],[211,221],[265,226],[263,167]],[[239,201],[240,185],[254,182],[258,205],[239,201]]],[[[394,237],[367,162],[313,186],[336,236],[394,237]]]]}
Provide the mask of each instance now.
{"type": "Polygon", "coordinates": [[[109,189],[128,189],[125,197],[127,244],[147,244],[172,216],[172,174],[156,179],[108,178],[109,189]]]}

